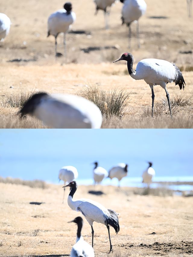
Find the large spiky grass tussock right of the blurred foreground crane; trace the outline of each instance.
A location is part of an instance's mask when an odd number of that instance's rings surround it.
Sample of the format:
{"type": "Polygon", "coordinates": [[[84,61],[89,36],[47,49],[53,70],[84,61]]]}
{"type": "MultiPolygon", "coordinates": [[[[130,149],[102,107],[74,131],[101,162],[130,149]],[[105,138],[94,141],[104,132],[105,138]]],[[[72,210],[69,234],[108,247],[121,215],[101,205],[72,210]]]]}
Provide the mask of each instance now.
{"type": "Polygon", "coordinates": [[[106,92],[96,86],[86,88],[80,95],[95,103],[101,110],[102,115],[107,118],[113,116],[122,118],[124,108],[130,101],[130,93],[124,90],[112,89],[106,92]]]}

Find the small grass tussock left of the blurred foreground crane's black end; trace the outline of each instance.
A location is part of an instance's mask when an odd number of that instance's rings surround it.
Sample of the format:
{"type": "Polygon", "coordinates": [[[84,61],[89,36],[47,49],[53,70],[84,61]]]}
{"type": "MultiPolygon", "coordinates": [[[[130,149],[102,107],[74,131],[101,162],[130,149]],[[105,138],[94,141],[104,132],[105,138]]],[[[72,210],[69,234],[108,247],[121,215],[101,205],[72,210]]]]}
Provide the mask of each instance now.
{"type": "Polygon", "coordinates": [[[12,95],[6,95],[6,98],[3,102],[3,106],[12,107],[12,108],[22,108],[24,103],[32,97],[36,92],[32,90],[31,92],[20,91],[12,95]]]}

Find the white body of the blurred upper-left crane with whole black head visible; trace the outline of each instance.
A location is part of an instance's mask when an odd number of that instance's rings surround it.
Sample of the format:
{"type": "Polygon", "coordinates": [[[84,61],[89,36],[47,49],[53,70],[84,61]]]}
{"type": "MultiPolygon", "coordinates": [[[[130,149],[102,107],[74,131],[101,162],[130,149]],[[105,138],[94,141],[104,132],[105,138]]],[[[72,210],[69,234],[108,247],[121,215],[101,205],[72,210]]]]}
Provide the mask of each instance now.
{"type": "Polygon", "coordinates": [[[74,12],[67,14],[65,9],[55,11],[48,18],[48,31],[53,36],[66,33],[75,20],[76,14],[74,12]]]}

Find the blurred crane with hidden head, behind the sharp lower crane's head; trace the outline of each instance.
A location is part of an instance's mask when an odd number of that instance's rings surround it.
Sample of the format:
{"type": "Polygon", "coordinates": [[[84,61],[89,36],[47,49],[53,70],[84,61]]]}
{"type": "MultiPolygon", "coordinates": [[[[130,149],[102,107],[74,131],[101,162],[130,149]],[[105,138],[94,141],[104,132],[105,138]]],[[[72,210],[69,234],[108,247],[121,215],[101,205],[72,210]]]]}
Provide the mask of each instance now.
{"type": "MultiPolygon", "coordinates": [[[[66,183],[71,182],[72,180],[75,180],[78,178],[78,171],[74,166],[64,166],[60,169],[59,175],[58,175],[59,181],[64,181],[64,186],[66,183]]],[[[65,195],[65,187],[64,187],[64,194],[62,203],[64,203],[64,195],[65,195]]]]}

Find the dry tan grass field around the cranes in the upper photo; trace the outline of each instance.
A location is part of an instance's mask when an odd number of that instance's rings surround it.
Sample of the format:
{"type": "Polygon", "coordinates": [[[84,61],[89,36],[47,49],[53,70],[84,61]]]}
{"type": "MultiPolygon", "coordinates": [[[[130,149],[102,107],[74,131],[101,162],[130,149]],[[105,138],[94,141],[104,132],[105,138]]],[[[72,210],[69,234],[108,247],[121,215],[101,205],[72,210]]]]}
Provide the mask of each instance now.
{"type": "MultiPolygon", "coordinates": [[[[72,0],[77,20],[68,33],[68,58],[54,58],[54,38],[47,35],[47,18],[62,8],[64,1],[2,0],[1,12],[12,22],[10,34],[0,43],[0,127],[43,127],[41,122],[28,118],[19,121],[18,109],[6,104],[6,97],[25,92],[80,93],[88,85],[103,90],[125,89],[130,101],[122,120],[104,119],[103,128],[192,128],[193,127],[193,30],[188,18],[186,0],[146,0],[147,12],[141,17],[141,49],[137,47],[136,24],[132,24],[131,49],[128,49],[128,28],[121,26],[122,4],[111,8],[110,30],[104,30],[104,15],[94,16],[91,0],[72,0]],[[157,19],[156,17],[163,17],[157,19]],[[169,119],[165,91],[156,86],[155,117],[150,116],[151,90],[143,81],[133,80],[124,62],[112,61],[124,52],[134,55],[134,67],[143,58],[160,58],[175,62],[185,78],[184,91],[174,83],[168,84],[174,119],[169,119]],[[176,104],[176,99],[183,104],[176,104]]],[[[58,52],[63,53],[62,35],[58,39],[58,52]]]]}

